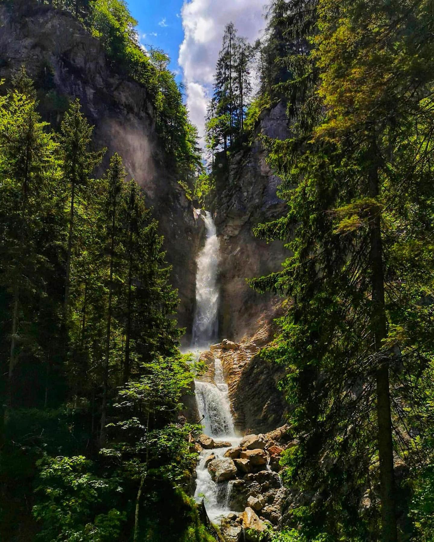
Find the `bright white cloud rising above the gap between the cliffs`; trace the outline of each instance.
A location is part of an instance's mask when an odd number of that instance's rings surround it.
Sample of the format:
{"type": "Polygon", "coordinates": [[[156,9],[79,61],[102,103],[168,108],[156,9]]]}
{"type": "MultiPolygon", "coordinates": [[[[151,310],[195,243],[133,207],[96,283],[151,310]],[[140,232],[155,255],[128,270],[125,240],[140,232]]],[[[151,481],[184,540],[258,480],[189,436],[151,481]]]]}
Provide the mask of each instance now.
{"type": "Polygon", "coordinates": [[[232,21],[238,34],[256,40],[265,28],[264,7],[269,0],[184,0],[181,10],[184,40],[178,63],[184,72],[190,119],[203,137],[205,113],[213,84],[215,63],[225,25],[232,21]]]}

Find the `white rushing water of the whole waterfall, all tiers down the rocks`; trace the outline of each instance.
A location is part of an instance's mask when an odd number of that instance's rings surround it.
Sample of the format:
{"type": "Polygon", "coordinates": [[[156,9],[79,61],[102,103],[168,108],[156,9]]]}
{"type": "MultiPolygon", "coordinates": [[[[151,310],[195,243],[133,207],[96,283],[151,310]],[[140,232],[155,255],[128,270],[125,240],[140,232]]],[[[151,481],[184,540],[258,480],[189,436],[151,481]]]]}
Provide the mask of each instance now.
{"type": "MultiPolygon", "coordinates": [[[[203,220],[205,221],[207,239],[205,247],[197,258],[196,313],[192,345],[196,351],[207,350],[217,338],[218,332],[219,240],[213,218],[209,212],[206,212],[203,220]]],[[[237,446],[241,439],[235,435],[228,386],[219,358],[214,359],[214,369],[214,382],[195,381],[197,409],[200,417],[203,418],[201,421],[204,426],[203,431],[216,440],[229,441],[231,446],[237,446]]],[[[207,467],[205,467],[205,462],[210,454],[214,454],[217,458],[223,457],[226,450],[227,448],[203,450],[196,468],[195,499],[197,502],[204,500],[208,516],[212,521],[218,520],[219,517],[230,511],[228,501],[232,485],[231,482],[213,482],[207,467]]]]}

